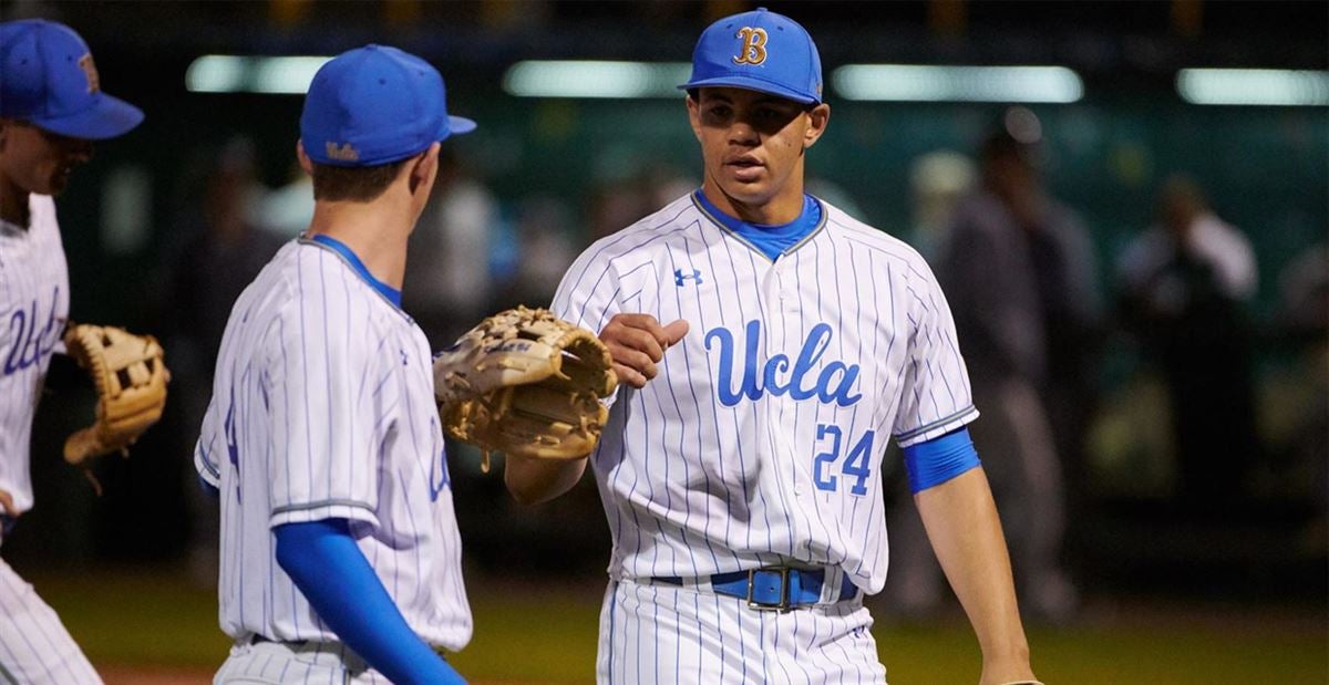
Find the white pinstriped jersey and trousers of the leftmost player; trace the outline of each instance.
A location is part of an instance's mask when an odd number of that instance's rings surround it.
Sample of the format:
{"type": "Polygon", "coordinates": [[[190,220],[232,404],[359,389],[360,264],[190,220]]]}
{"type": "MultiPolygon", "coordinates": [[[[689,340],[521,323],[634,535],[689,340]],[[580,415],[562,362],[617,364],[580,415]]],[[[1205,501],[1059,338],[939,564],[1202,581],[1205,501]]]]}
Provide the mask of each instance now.
{"type": "MultiPolygon", "coordinates": [[[[29,195],[29,226],[0,222],[0,489],[33,506],[29,447],[51,354],[69,317],[69,269],[54,202],[29,195]]],[[[0,681],[101,682],[60,617],[0,562],[0,681]]]]}

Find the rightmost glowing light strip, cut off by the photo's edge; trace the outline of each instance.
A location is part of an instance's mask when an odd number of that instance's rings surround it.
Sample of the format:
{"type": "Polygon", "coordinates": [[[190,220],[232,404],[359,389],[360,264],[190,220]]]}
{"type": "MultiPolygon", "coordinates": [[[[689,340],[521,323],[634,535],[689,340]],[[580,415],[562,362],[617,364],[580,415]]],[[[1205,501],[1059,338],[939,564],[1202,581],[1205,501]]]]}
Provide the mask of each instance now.
{"type": "Polygon", "coordinates": [[[1176,92],[1192,105],[1329,105],[1329,72],[1181,69],[1176,92]]]}

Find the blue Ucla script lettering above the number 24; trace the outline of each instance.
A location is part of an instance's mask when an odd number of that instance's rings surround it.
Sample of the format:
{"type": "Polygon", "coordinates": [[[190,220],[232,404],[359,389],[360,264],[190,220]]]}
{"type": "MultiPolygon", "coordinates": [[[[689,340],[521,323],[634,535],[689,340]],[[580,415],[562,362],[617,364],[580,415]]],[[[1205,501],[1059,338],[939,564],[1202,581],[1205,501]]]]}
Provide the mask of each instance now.
{"type": "Polygon", "coordinates": [[[716,390],[720,404],[734,406],[744,397],[760,400],[763,394],[771,393],[781,396],[788,393],[797,401],[816,397],[824,404],[835,402],[840,406],[849,406],[863,400],[863,393],[853,394],[853,384],[859,380],[859,365],[832,361],[821,366],[816,376],[812,369],[817,366],[827,348],[831,345],[831,327],[817,324],[812,327],[808,339],[803,341],[799,357],[789,366],[788,354],[772,354],[759,369],[759,350],[762,349],[762,321],[747,323],[747,340],[743,354],[743,380],[735,388],[734,384],[734,357],[736,344],[734,333],[727,328],[712,328],[706,333],[706,349],[719,346],[720,373],[716,378],[716,390]]]}

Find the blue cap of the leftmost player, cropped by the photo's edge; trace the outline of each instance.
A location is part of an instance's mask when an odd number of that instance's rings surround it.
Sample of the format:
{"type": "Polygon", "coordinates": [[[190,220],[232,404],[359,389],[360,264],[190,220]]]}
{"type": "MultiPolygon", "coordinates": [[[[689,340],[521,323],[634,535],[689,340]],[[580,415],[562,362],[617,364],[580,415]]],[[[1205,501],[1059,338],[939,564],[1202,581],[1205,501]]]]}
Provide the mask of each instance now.
{"type": "Polygon", "coordinates": [[[102,141],[129,133],[144,112],[101,92],[92,52],[72,28],[24,19],[0,24],[0,117],[102,141]]]}

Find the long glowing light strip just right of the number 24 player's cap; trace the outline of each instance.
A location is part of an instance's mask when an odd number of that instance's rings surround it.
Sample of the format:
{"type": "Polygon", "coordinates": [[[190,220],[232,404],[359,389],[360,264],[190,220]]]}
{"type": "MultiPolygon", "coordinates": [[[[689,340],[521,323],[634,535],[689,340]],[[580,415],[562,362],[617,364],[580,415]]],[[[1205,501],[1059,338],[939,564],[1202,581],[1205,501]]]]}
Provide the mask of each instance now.
{"type": "Polygon", "coordinates": [[[1075,102],[1084,82],[1066,66],[847,64],[831,73],[845,100],[900,102],[1075,102]]]}

